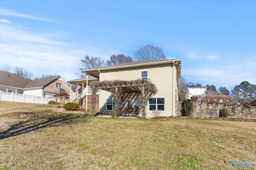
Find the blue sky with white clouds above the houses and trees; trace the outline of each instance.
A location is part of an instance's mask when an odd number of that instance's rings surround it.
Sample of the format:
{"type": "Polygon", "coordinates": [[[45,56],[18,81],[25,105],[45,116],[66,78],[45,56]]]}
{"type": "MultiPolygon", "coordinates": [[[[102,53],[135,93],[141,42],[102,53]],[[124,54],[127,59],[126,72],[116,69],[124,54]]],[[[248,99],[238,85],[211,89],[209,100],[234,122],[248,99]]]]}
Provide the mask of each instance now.
{"type": "Polygon", "coordinates": [[[256,84],[256,1],[0,1],[0,65],[36,77],[73,80],[85,55],[133,57],[148,44],[181,59],[188,82],[256,84]]]}

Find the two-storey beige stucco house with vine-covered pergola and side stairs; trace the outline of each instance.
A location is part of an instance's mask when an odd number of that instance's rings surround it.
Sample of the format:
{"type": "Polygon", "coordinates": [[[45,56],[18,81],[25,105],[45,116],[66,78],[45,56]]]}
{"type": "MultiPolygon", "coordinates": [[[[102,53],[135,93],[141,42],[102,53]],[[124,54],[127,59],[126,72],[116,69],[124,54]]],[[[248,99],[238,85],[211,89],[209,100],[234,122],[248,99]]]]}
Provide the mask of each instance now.
{"type": "MultiPolygon", "coordinates": [[[[150,94],[146,103],[146,117],[152,117],[152,111],[159,111],[160,116],[175,116],[175,101],[178,100],[180,93],[180,70],[181,60],[162,60],[162,61],[134,61],[130,63],[105,66],[90,70],[83,70],[86,78],[68,81],[72,84],[82,86],[82,92],[74,94],[68,102],[80,103],[86,110],[92,109],[90,101],[91,91],[90,82],[110,81],[110,80],[138,80],[145,79],[152,82],[157,92],[150,94]]],[[[131,86],[131,85],[130,85],[131,86]]],[[[126,86],[125,93],[122,94],[120,101],[121,110],[129,107],[130,109],[140,108],[140,93],[136,88],[126,86]]],[[[110,90],[98,89],[96,111],[99,113],[110,114],[114,107],[114,98],[110,90]]]]}

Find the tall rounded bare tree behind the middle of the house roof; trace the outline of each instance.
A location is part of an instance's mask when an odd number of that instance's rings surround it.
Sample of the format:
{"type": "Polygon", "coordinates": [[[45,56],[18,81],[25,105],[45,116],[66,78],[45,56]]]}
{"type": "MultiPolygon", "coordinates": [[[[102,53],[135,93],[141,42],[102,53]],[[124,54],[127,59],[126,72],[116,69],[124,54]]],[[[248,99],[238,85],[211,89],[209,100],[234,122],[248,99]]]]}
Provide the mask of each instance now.
{"type": "Polygon", "coordinates": [[[146,45],[134,52],[135,59],[138,60],[164,60],[164,51],[153,45],[146,45]]]}

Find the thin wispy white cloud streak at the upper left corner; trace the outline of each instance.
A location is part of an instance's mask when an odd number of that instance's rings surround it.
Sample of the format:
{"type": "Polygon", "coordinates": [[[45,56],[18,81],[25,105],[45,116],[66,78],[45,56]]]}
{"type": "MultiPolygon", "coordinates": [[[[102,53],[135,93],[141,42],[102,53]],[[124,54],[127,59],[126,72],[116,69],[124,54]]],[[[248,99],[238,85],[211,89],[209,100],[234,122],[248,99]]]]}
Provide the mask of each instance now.
{"type": "Polygon", "coordinates": [[[1,15],[2,16],[21,17],[21,18],[28,18],[28,19],[32,19],[32,20],[39,20],[39,21],[45,21],[45,22],[55,22],[54,20],[41,18],[41,17],[36,17],[36,16],[30,16],[30,15],[27,15],[27,14],[21,14],[21,13],[18,13],[18,12],[5,10],[5,9],[2,9],[2,8],[0,10],[1,10],[1,15]]]}

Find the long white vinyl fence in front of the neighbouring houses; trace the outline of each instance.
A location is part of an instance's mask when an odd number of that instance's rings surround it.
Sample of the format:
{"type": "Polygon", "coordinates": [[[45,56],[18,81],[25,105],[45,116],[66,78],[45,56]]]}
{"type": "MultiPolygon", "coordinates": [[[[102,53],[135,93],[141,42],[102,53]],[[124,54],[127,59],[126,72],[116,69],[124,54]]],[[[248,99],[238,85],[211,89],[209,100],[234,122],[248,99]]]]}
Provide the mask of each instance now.
{"type": "Polygon", "coordinates": [[[48,102],[51,100],[55,101],[55,98],[44,97],[44,96],[34,96],[34,95],[28,95],[28,94],[18,94],[14,92],[12,93],[2,92],[0,90],[0,101],[48,104],[48,102]]]}

